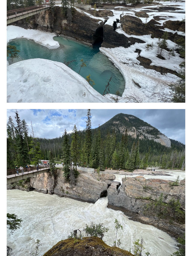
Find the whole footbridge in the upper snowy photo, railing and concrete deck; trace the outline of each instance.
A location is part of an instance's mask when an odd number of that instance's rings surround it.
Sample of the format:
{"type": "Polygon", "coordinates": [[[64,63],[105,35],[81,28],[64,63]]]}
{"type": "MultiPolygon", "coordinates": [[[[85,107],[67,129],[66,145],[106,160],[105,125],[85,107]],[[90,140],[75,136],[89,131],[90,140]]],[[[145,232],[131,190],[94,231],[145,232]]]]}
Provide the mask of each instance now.
{"type": "Polygon", "coordinates": [[[49,8],[49,4],[44,4],[7,11],[7,25],[17,20],[22,20],[34,14],[38,14],[42,11],[49,10],[49,8]]]}

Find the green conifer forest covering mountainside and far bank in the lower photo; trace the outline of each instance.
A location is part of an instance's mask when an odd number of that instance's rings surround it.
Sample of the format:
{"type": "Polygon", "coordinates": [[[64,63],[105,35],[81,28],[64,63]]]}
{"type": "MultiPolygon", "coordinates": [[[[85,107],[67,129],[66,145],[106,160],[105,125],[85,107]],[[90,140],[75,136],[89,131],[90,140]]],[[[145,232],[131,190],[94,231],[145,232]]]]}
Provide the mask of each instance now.
{"type": "MultiPolygon", "coordinates": [[[[63,136],[47,139],[29,135],[26,121],[21,120],[19,112],[15,111],[15,120],[10,116],[7,122],[7,169],[15,165],[36,165],[39,160],[51,160],[64,163],[66,178],[69,176],[68,166],[74,165],[104,170],[107,168],[133,171],[136,168],[161,167],[162,169],[181,169],[185,166],[184,144],[172,140],[171,147],[161,145],[148,137],[139,139],[128,134],[131,125],[136,130],[146,126],[146,122],[134,117],[134,123],[125,124],[127,114],[118,114],[98,128],[91,128],[91,110],[87,110],[86,128],[79,131],[74,124],[72,133],[63,131],[63,136]],[[114,120],[123,129],[114,126],[114,120]],[[52,158],[52,159],[50,159],[52,158]]],[[[149,126],[148,133],[158,136],[160,131],[149,126]]],[[[31,123],[33,131],[33,126],[31,123]]]]}

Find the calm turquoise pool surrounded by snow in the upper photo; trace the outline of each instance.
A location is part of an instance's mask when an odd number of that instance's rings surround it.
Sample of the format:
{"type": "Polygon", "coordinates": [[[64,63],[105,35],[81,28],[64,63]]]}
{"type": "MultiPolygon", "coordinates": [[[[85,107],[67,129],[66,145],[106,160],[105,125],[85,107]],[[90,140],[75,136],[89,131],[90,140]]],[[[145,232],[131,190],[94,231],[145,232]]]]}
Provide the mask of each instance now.
{"type": "Polygon", "coordinates": [[[57,49],[48,49],[27,39],[11,41],[9,44],[15,45],[20,52],[19,57],[13,59],[13,62],[9,60],[10,64],[25,59],[49,59],[65,64],[70,62],[68,66],[76,73],[79,73],[82,63],[80,60],[83,59],[86,67],[81,68],[79,75],[86,79],[86,76],[90,74],[90,78],[95,82],[93,88],[96,91],[103,95],[105,87],[112,76],[110,91],[108,90],[108,92],[115,94],[119,91],[120,96],[122,95],[125,89],[125,80],[119,69],[113,65],[107,56],[103,55],[97,48],[92,48],[61,36],[54,37],[54,40],[60,44],[57,49]]]}

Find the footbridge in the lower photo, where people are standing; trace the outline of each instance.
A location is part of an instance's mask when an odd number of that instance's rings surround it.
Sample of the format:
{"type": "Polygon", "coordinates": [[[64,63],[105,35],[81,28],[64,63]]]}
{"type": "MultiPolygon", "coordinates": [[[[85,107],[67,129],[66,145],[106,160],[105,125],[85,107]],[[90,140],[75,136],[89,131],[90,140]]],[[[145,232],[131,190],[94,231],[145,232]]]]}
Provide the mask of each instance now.
{"type": "Polygon", "coordinates": [[[23,172],[21,173],[19,170],[19,174],[16,173],[15,169],[9,169],[7,170],[7,184],[11,182],[16,182],[22,179],[31,178],[34,175],[45,173],[49,171],[49,165],[40,165],[38,167],[38,170],[36,167],[30,167],[30,168],[24,168],[23,172]]]}

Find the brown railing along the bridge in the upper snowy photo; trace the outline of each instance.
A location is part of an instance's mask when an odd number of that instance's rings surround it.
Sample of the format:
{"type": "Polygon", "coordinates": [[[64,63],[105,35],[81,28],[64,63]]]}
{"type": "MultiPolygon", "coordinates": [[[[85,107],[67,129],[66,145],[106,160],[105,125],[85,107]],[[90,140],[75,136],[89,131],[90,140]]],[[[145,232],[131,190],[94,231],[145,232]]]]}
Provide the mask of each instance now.
{"type": "Polygon", "coordinates": [[[43,5],[34,5],[34,6],[25,7],[25,8],[10,10],[10,11],[7,11],[7,19],[11,19],[13,17],[17,17],[22,14],[30,13],[39,9],[44,9],[49,6],[50,6],[49,4],[43,4],[43,5]]]}

